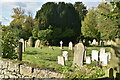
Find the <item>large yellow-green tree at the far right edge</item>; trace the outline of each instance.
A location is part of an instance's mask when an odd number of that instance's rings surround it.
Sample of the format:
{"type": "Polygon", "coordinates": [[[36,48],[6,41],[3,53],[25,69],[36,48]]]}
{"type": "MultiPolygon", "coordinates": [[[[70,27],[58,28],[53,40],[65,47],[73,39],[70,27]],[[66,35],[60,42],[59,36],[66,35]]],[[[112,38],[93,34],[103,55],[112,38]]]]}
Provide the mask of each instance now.
{"type": "Polygon", "coordinates": [[[119,35],[120,18],[117,19],[117,17],[120,16],[120,9],[112,10],[112,5],[107,3],[101,3],[97,8],[97,28],[103,40],[115,39],[119,35]]]}

